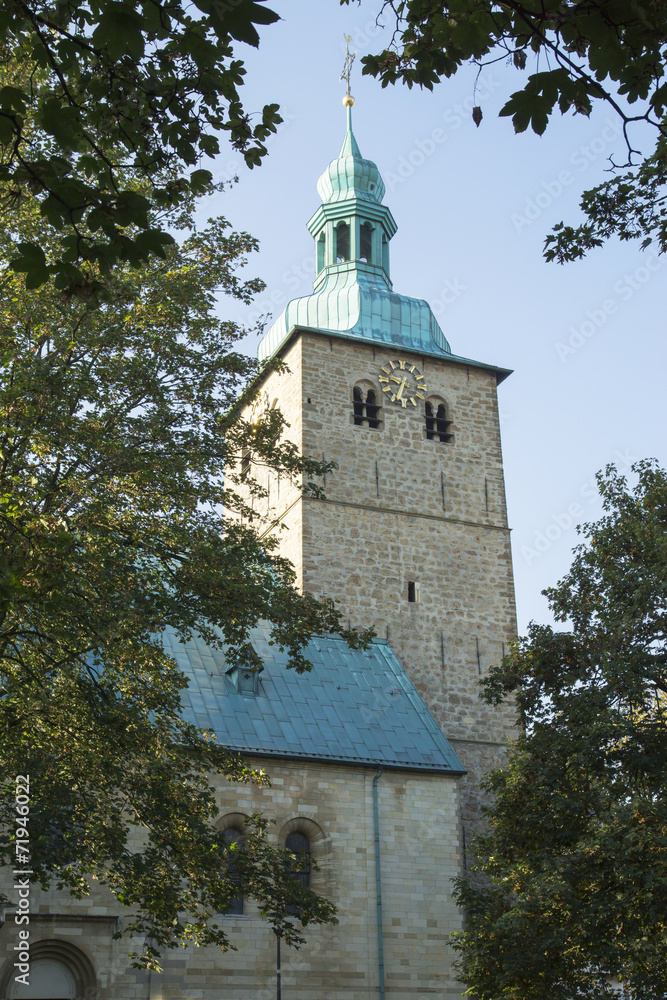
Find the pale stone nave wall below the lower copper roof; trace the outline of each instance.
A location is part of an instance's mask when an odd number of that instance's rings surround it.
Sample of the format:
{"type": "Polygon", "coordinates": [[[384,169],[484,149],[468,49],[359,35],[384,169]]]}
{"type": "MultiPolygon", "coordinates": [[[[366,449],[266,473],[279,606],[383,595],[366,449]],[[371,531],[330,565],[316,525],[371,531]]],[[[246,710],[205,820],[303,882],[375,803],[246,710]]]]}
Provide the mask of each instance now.
{"type": "MultiPolygon", "coordinates": [[[[270,836],[284,843],[299,829],[312,845],[319,871],[312,887],[337,906],[337,926],[308,927],[300,950],[282,948],[283,997],[295,1000],[368,1000],[378,996],[377,897],[373,823],[375,769],[317,763],[264,763],[271,788],[225,782],[219,790],[221,826],[239,814],[275,820],[270,836]]],[[[448,944],[460,918],[450,879],[458,872],[457,780],[385,771],[378,781],[385,984],[396,1000],[435,996],[460,1000],[448,944]]],[[[73,945],[96,970],[95,1000],[271,1000],[276,995],[276,941],[257,908],[228,916],[236,951],[188,948],[164,956],[164,973],[129,968],[127,938],[112,935],[126,911],[108,893],[88,900],[33,889],[31,943],[73,945]]],[[[16,928],[0,931],[11,955],[16,928]]],[[[57,951],[56,951],[57,954],[57,951]]],[[[0,965],[7,986],[11,957],[0,965]]],[[[11,982],[11,977],[10,977],[11,982]]],[[[11,994],[0,991],[0,1000],[11,994]]]]}

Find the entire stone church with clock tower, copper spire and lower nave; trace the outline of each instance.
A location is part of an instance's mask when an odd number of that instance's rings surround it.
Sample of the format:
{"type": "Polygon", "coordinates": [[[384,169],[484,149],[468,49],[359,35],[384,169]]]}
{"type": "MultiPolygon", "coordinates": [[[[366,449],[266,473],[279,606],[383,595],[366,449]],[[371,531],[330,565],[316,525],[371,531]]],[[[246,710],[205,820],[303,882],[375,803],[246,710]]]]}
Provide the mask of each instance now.
{"type": "MultiPolygon", "coordinates": [[[[282,984],[293,1000],[461,1000],[452,878],[480,819],[480,779],[514,723],[478,696],[515,635],[496,399],[509,372],[455,355],[428,304],[393,291],[396,223],[347,103],[343,146],[308,224],[313,294],[290,302],[262,340],[260,356],[285,364],[267,369],[253,404],[279,406],[300,453],[336,469],[322,497],[259,463],[252,478],[266,488],[255,513],[299,585],[378,638],[351,650],[318,636],[305,650],[313,669],[299,676],[270,622],[250,636],[255,674],[201,635],[163,636],[188,679],[184,717],[271,776],[261,786],[213,779],[224,842],[265,816],[270,843],[312,860],[300,878],[340,922],[309,926],[303,950],[281,952],[257,900],[238,897],[216,916],[235,950],[166,954],[159,977],[128,965],[118,930],[130,916],[103,885],[87,899],[34,886],[33,978],[28,989],[15,979],[12,914],[0,1000],[272,1000],[282,984]]],[[[252,465],[241,457],[241,472],[252,465]]]]}

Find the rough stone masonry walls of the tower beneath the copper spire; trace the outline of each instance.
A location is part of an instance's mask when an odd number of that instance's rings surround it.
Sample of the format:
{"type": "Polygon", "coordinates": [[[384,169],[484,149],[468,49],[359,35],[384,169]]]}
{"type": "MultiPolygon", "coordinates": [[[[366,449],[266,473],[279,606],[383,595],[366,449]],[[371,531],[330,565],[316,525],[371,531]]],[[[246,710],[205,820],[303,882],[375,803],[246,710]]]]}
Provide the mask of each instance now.
{"type": "Polygon", "coordinates": [[[281,551],[299,586],[389,638],[469,771],[462,821],[476,826],[480,775],[514,734],[511,707],[490,708],[478,695],[480,677],[516,635],[496,376],[316,333],[294,338],[285,361],[290,372],[269,376],[265,396],[279,400],[304,454],[338,468],[325,501],[291,492],[279,503],[267,477],[264,530],[282,518],[281,551]],[[446,404],[450,442],[427,439],[423,404],[383,400],[379,428],[354,424],[355,384],[381,397],[378,376],[390,360],[423,372],[426,395],[446,404]]]}

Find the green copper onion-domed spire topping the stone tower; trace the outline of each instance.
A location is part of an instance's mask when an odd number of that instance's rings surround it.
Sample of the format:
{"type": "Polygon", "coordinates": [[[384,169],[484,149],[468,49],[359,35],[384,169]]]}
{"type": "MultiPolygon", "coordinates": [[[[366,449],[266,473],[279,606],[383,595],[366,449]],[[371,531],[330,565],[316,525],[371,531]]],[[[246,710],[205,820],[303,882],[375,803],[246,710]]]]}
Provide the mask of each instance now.
{"type": "Polygon", "coordinates": [[[396,222],[382,203],[380,171],[361,155],[352,131],[349,90],[343,103],[343,145],[317,182],[322,204],[308,223],[316,248],[313,294],[287,305],[260,342],[259,357],[272,357],[296,328],[451,356],[428,303],[393,291],[389,241],[396,222]]]}

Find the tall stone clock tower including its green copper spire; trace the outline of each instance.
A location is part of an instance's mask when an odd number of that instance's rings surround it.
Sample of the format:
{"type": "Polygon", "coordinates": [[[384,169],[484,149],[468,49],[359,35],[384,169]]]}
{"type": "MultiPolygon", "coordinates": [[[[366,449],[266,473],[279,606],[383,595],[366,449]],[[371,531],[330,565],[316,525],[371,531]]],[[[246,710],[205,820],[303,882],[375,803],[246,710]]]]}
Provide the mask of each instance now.
{"type": "Polygon", "coordinates": [[[496,398],[509,372],[454,355],[428,304],[392,290],[396,223],[350,101],[308,223],[314,292],[288,304],[259,348],[289,368],[267,375],[260,405],[279,406],[301,452],[337,470],[323,500],[254,470],[269,493],[260,513],[305,591],[389,639],[467,769],[465,844],[480,777],[514,723],[478,696],[516,634],[496,398]]]}

